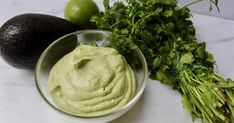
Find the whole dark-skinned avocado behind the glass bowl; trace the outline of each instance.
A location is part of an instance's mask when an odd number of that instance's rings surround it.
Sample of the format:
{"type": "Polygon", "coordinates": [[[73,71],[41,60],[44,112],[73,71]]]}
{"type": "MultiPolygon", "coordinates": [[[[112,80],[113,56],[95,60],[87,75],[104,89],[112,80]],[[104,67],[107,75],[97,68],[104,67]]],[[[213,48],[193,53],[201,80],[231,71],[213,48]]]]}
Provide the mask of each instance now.
{"type": "Polygon", "coordinates": [[[48,45],[74,31],[76,26],[63,18],[36,13],[18,15],[0,28],[0,54],[15,68],[32,70],[48,45]]]}

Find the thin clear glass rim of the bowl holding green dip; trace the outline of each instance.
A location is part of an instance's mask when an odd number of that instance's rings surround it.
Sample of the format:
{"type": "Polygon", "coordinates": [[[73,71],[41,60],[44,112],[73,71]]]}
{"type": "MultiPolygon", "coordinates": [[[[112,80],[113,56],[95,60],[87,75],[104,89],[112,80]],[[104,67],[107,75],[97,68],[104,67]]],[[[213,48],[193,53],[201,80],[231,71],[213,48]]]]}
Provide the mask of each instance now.
{"type": "Polygon", "coordinates": [[[141,55],[142,57],[142,60],[143,60],[143,68],[144,68],[144,74],[145,76],[143,77],[143,83],[142,83],[142,86],[140,87],[139,91],[135,94],[135,96],[127,103],[125,104],[123,107],[113,111],[113,112],[110,112],[110,113],[107,113],[107,114],[103,114],[103,115],[98,115],[98,116],[79,116],[79,115],[75,115],[75,114],[72,114],[72,113],[69,113],[69,112],[65,112],[63,110],[60,110],[59,108],[57,108],[56,106],[54,106],[48,99],[47,97],[43,94],[43,91],[40,87],[40,79],[39,79],[39,71],[40,71],[40,66],[41,66],[41,62],[44,58],[44,56],[46,55],[46,53],[48,52],[48,50],[53,47],[57,42],[59,42],[61,39],[65,38],[65,37],[68,37],[70,35],[79,35],[79,34],[82,34],[82,33],[86,33],[86,32],[97,32],[97,33],[103,33],[103,32],[106,32],[106,33],[111,33],[110,31],[106,31],[106,30],[95,30],[95,29],[89,29],[89,30],[80,30],[80,31],[75,31],[75,32],[72,32],[72,33],[68,33],[58,39],[56,39],[54,42],[52,42],[49,46],[46,47],[46,49],[42,52],[42,54],[40,55],[37,63],[36,63],[36,67],[35,67],[35,72],[34,72],[34,80],[35,80],[35,84],[36,84],[36,88],[39,92],[39,94],[41,95],[41,97],[43,98],[43,100],[49,105],[49,107],[51,107],[52,109],[56,110],[57,112],[59,113],[62,113],[64,115],[67,115],[67,116],[70,116],[70,117],[74,117],[74,118],[98,118],[98,117],[104,117],[104,116],[108,116],[108,115],[112,115],[112,114],[116,114],[118,112],[120,112],[121,110],[124,110],[125,108],[131,106],[133,103],[135,103],[135,101],[137,99],[139,99],[147,85],[147,79],[148,79],[148,66],[147,66],[147,62],[145,60],[145,57],[143,55],[143,53],[141,52],[141,50],[136,46],[136,51],[138,54],[141,55]]]}

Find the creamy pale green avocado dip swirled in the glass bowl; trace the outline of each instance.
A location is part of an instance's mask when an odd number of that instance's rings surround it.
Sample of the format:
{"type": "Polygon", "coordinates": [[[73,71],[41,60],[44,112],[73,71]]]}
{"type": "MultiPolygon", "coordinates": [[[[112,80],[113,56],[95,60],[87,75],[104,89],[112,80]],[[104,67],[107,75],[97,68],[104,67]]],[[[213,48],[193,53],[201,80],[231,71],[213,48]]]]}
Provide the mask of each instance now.
{"type": "Polygon", "coordinates": [[[48,87],[57,108],[92,117],[127,104],[135,95],[136,77],[117,50],[80,45],[53,66],[48,87]]]}

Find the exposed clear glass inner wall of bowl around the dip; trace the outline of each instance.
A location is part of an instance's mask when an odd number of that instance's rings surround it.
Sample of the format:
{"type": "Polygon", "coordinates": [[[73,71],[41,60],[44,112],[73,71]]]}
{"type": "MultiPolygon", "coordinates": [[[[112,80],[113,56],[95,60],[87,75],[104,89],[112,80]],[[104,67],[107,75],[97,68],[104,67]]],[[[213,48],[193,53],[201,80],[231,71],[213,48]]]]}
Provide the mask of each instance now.
{"type": "MultiPolygon", "coordinates": [[[[95,45],[98,47],[103,47],[108,41],[108,35],[110,32],[108,31],[100,31],[100,30],[85,30],[85,31],[77,31],[74,33],[70,33],[65,35],[55,42],[53,42],[40,56],[35,71],[35,81],[37,88],[43,97],[43,99],[54,109],[60,111],[57,106],[53,103],[49,91],[48,91],[48,77],[51,68],[55,65],[55,63],[61,59],[65,54],[71,52],[80,44],[84,45],[95,45]]],[[[146,86],[147,79],[147,64],[144,59],[141,51],[136,47],[132,51],[131,58],[132,60],[137,61],[134,64],[130,64],[132,69],[136,74],[137,80],[137,89],[136,96],[122,109],[132,105],[136,102],[137,98],[140,97],[146,86]]],[[[122,110],[120,109],[120,110],[122,110]]],[[[60,111],[62,113],[68,114],[66,112],[60,111]]],[[[72,115],[72,114],[68,114],[72,115]]]]}

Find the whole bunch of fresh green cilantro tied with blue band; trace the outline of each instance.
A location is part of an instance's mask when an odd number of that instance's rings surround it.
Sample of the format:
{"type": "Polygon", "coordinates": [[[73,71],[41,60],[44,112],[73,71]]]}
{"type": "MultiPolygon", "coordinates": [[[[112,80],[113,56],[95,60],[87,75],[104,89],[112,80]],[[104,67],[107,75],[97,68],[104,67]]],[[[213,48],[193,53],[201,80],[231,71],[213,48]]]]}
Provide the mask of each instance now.
{"type": "Polygon", "coordinates": [[[105,11],[92,21],[99,29],[113,32],[110,47],[132,60],[131,49],[138,46],[150,77],[179,91],[193,119],[234,123],[234,83],[214,72],[213,56],[206,51],[206,44],[196,39],[187,6],[179,7],[176,0],[103,3],[105,11]]]}

